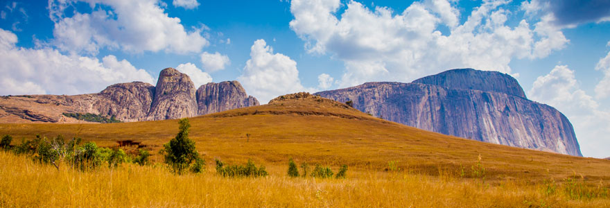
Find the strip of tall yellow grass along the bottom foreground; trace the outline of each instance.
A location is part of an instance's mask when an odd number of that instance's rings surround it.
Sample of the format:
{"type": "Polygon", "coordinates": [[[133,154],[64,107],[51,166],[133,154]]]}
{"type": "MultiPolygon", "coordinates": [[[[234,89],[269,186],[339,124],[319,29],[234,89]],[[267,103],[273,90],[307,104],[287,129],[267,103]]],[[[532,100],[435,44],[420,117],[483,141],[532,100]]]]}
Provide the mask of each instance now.
{"type": "MultiPolygon", "coordinates": [[[[607,185],[505,180],[481,187],[445,174],[351,171],[345,180],[288,177],[270,166],[266,177],[222,177],[214,168],[172,174],[162,165],[122,164],[96,171],[39,164],[0,151],[0,207],[609,207],[607,185]],[[581,186],[582,185],[582,186],[581,186]],[[568,189],[573,190],[570,192],[568,189]],[[568,191],[566,191],[568,190],[568,191]],[[573,193],[596,193],[575,198],[573,193]],[[604,190],[606,192],[604,192],[604,190]],[[601,193],[606,193],[603,195],[601,193]]],[[[602,182],[603,183],[603,182],[602,182]]]]}

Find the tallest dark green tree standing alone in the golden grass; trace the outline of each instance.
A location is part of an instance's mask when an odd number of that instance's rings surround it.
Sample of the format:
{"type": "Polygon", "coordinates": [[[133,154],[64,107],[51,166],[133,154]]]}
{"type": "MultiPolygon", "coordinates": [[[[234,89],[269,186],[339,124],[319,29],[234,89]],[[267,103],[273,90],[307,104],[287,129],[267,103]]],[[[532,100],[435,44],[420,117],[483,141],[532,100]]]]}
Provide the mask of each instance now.
{"type": "Polygon", "coordinates": [[[199,153],[195,149],[195,141],[189,139],[189,128],[191,128],[189,119],[180,119],[178,123],[180,123],[180,132],[163,145],[162,154],[165,155],[165,163],[172,168],[172,171],[182,174],[193,161],[199,159],[199,153]]]}

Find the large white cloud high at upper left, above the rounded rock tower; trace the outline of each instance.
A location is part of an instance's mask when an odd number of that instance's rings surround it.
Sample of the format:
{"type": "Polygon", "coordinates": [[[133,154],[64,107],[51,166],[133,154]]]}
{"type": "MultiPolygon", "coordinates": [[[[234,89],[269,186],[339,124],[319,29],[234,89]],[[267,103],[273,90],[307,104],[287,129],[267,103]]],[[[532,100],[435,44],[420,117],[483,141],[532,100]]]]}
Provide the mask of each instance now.
{"type": "Polygon", "coordinates": [[[89,54],[102,48],[188,53],[209,44],[200,34],[202,29],[186,31],[180,19],[168,17],[155,0],[86,1],[93,12],[76,11],[72,17],[64,17],[64,10],[73,1],[49,1],[49,17],[55,22],[52,43],[58,49],[89,54]]]}

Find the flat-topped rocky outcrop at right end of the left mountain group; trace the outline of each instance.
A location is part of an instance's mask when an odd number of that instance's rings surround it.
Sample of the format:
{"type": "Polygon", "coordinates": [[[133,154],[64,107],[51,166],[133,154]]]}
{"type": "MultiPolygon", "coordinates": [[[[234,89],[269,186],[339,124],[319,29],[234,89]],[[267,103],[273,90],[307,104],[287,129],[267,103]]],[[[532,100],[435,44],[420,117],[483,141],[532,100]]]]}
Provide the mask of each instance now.
{"type": "Polygon", "coordinates": [[[201,85],[196,97],[200,115],[259,105],[259,101],[248,96],[238,81],[201,85]]]}

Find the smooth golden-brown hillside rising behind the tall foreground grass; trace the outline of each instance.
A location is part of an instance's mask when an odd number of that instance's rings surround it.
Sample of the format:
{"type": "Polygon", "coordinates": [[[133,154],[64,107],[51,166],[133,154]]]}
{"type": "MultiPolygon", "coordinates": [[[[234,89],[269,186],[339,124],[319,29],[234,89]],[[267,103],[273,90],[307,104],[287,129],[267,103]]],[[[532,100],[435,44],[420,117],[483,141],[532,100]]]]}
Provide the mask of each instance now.
{"type": "MultiPolygon", "coordinates": [[[[575,174],[610,180],[610,161],[489,144],[419,130],[369,116],[343,103],[312,96],[281,96],[268,105],[228,110],[191,120],[191,139],[207,161],[254,159],[284,166],[288,158],[351,170],[383,171],[390,161],[403,170],[438,175],[439,168],[460,171],[482,158],[488,180],[543,180],[575,174]]],[[[133,140],[157,150],[177,130],[176,120],[107,124],[0,124],[0,135],[33,138],[78,135],[101,146],[133,140]]],[[[18,139],[13,141],[15,144],[18,139]]],[[[159,161],[158,156],[153,159],[159,161]]]]}

